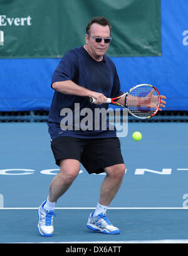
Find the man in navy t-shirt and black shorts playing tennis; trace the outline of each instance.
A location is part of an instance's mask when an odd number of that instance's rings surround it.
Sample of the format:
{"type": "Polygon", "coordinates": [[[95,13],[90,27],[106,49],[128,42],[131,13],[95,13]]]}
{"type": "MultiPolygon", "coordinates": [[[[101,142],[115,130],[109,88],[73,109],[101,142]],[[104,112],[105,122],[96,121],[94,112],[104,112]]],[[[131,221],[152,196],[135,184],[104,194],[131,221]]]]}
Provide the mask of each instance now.
{"type": "MultiPolygon", "coordinates": [[[[44,237],[53,235],[55,204],[68,190],[80,172],[80,163],[89,174],[106,172],[100,188],[100,198],[94,213],[86,226],[90,230],[107,234],[120,233],[119,228],[110,223],[107,209],[122,184],[125,164],[116,131],[81,130],[75,124],[75,103],[79,110],[108,108],[107,97],[123,94],[120,81],[112,60],[105,55],[112,38],[111,26],[104,17],[91,19],[86,26],[85,45],[66,53],[56,68],[51,87],[55,90],[48,117],[51,149],[60,166],[50,184],[48,198],[38,209],[38,231],[44,237]],[[90,97],[96,99],[90,103],[90,97]],[[65,118],[63,109],[71,109],[73,123],[63,130],[61,121],[65,118]]],[[[80,117],[81,118],[81,117],[80,117]]],[[[81,120],[80,120],[81,121],[81,120]]],[[[93,120],[92,120],[93,121],[93,120]]],[[[93,124],[94,127],[94,124],[93,124]]]]}

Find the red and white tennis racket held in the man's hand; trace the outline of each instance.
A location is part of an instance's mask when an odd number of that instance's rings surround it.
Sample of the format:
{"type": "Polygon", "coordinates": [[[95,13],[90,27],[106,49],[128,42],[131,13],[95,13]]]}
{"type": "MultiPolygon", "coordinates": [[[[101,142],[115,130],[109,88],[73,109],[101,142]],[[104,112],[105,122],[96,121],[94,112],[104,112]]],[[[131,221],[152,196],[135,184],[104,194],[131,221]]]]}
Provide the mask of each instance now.
{"type": "MultiPolygon", "coordinates": [[[[90,103],[96,100],[90,97],[90,103]]],[[[107,102],[113,105],[127,108],[128,113],[136,118],[151,118],[160,108],[159,91],[150,84],[138,84],[121,96],[107,98],[107,102]]]]}

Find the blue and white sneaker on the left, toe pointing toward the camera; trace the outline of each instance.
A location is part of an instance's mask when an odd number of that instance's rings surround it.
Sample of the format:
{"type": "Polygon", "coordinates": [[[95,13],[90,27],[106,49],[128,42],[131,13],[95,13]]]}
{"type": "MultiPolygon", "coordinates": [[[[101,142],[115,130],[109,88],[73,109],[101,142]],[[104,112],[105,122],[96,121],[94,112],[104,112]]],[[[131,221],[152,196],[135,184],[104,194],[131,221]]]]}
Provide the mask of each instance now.
{"type": "Polygon", "coordinates": [[[44,204],[46,204],[46,201],[44,201],[38,209],[39,222],[37,227],[40,235],[43,237],[52,237],[54,231],[53,216],[56,215],[54,211],[44,209],[44,204]]]}

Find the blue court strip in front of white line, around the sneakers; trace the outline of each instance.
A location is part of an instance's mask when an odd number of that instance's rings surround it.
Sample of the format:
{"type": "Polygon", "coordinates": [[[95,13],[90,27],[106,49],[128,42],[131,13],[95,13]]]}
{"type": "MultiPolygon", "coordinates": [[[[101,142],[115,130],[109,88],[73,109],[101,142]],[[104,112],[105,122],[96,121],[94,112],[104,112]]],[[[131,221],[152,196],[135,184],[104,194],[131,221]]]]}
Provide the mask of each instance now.
{"type": "Polygon", "coordinates": [[[36,228],[37,209],[1,209],[1,243],[131,242],[186,240],[186,209],[109,209],[120,235],[104,235],[86,228],[90,209],[57,209],[55,235],[41,237],[36,228]]]}

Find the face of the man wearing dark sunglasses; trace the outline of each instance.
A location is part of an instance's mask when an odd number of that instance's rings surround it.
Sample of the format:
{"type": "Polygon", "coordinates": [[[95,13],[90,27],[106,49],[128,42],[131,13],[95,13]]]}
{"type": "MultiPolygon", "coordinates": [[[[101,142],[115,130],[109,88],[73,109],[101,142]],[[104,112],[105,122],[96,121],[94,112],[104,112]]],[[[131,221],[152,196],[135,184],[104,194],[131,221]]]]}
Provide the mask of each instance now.
{"type": "Polygon", "coordinates": [[[102,40],[102,42],[100,43],[97,43],[95,42],[95,39],[93,39],[92,36],[109,38],[109,26],[102,26],[97,23],[93,23],[90,28],[90,35],[85,36],[87,49],[90,52],[91,56],[93,56],[96,59],[100,59],[107,52],[110,43],[105,43],[104,40],[102,40]]]}

